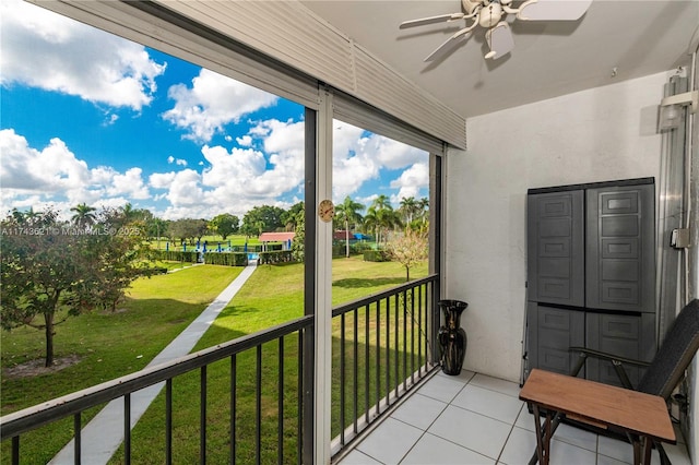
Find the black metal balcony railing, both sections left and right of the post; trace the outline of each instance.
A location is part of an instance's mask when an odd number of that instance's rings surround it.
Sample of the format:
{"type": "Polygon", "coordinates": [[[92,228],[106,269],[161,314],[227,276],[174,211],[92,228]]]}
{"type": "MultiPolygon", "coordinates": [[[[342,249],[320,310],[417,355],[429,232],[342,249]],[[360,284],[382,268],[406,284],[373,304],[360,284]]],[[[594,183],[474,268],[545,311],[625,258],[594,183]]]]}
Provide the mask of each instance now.
{"type": "MultiPolygon", "coordinates": [[[[429,372],[437,293],[433,275],[333,310],[334,454],[429,372]]],[[[83,418],[121,398],[123,442],[112,461],[310,463],[312,333],[313,317],[303,317],[7,415],[0,439],[5,452],[11,442],[11,454],[2,462],[36,462],[21,453],[24,444],[40,448],[42,428],[62,422],[74,431],[80,464],[83,418]],[[133,427],[131,396],[150,386],[165,390],[133,427]],[[198,425],[182,425],[182,418],[198,418],[198,425]]]]}

